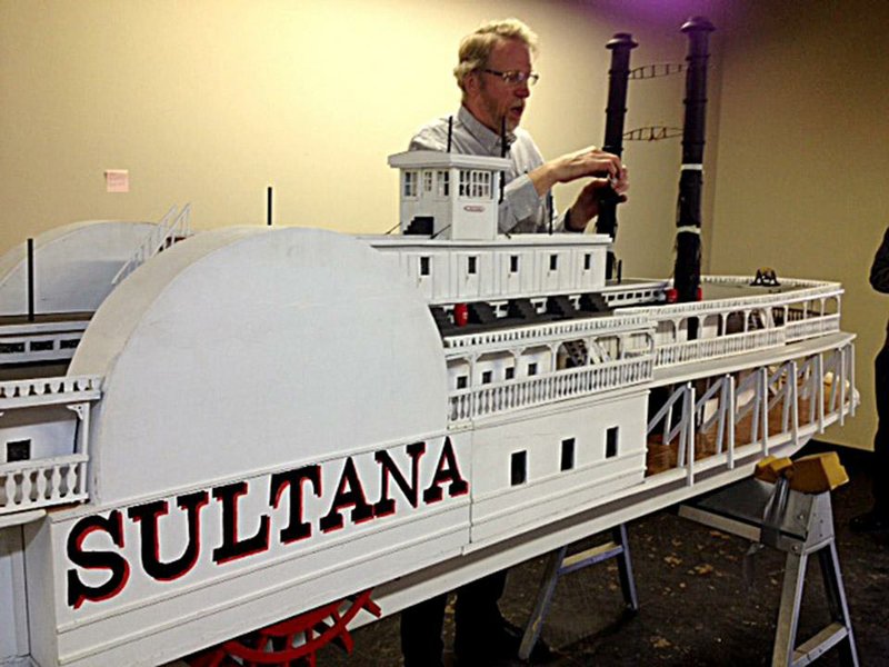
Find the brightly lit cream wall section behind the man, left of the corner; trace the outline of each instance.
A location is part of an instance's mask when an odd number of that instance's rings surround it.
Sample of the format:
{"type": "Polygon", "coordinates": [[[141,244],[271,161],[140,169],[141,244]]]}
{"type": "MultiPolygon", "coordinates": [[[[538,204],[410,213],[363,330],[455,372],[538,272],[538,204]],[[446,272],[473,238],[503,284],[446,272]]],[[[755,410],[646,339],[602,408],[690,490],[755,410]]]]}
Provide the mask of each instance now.
{"type": "MultiPolygon", "coordinates": [[[[384,232],[398,221],[386,157],[456,112],[457,46],[480,22],[517,16],[539,33],[525,126],[556,157],[602,142],[615,32],[641,44],[635,63],[679,61],[681,23],[723,4],[0,2],[0,252],[72,220],[158,220],[188,201],[197,229],[264,225],[268,186],[276,223],[384,232]],[[129,170],[129,192],[106,192],[108,169],[129,170]]],[[[681,125],[681,77],[632,86],[627,127],[681,125]]],[[[625,275],[671,268],[679,152],[678,140],[627,147],[625,275]]],[[[565,208],[577,187],[558,190],[565,208]]]]}

